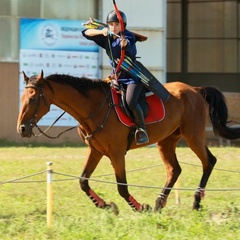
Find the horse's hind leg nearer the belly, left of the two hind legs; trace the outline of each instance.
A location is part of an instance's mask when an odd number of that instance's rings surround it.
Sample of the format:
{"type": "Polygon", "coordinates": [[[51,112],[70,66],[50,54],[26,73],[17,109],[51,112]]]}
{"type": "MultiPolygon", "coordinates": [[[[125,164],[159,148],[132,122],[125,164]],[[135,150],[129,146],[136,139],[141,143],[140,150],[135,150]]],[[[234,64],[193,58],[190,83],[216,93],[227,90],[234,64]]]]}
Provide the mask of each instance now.
{"type": "Polygon", "coordinates": [[[156,199],[154,211],[160,211],[166,206],[168,195],[170,194],[171,188],[174,186],[179,175],[181,174],[181,167],[178,163],[175,149],[176,144],[180,139],[178,130],[168,138],[157,144],[161,158],[165,164],[167,172],[167,181],[162,192],[156,199]]]}

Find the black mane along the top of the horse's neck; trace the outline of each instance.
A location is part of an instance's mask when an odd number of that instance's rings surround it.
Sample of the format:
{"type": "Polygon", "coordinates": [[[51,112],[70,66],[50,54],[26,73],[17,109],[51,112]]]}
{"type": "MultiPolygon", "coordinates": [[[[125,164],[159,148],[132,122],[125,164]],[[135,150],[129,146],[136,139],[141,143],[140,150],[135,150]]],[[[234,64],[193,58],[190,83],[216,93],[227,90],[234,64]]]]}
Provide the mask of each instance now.
{"type": "Polygon", "coordinates": [[[69,84],[82,94],[86,94],[89,90],[101,88],[107,83],[101,79],[90,79],[86,77],[74,77],[66,74],[52,74],[45,78],[46,81],[54,81],[61,84],[69,84]]]}

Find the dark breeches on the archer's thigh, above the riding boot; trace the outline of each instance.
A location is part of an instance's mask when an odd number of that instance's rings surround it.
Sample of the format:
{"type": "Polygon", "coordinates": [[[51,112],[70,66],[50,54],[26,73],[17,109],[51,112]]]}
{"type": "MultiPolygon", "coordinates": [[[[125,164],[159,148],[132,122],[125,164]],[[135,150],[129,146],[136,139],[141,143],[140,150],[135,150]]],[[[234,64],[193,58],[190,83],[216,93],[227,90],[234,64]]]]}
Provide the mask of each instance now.
{"type": "Polygon", "coordinates": [[[131,111],[135,110],[142,90],[143,90],[143,85],[141,82],[127,85],[126,102],[131,111]]]}

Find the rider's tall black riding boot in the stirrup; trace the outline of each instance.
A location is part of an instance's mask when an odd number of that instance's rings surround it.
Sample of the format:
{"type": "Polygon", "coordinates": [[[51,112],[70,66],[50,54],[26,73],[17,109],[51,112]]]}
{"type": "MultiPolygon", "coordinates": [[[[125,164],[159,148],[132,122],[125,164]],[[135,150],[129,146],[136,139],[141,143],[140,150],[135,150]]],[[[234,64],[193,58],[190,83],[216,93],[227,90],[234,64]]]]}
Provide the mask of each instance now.
{"type": "Polygon", "coordinates": [[[135,132],[135,139],[137,145],[148,143],[148,135],[147,135],[147,130],[146,126],[144,123],[144,117],[143,117],[143,112],[142,109],[139,105],[136,106],[136,108],[132,111],[134,121],[137,125],[137,130],[135,132]]]}

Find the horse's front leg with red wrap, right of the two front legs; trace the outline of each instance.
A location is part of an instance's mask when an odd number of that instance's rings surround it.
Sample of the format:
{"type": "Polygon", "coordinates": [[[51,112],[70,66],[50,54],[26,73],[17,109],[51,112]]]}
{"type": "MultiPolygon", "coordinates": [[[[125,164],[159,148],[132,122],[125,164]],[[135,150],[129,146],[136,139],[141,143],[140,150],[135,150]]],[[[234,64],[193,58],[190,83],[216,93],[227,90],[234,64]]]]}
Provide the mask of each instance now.
{"type": "Polygon", "coordinates": [[[151,207],[148,204],[140,204],[128,191],[124,154],[117,154],[115,158],[111,157],[111,162],[115,171],[120,196],[125,199],[133,211],[150,211],[151,207]]]}

